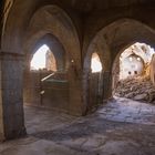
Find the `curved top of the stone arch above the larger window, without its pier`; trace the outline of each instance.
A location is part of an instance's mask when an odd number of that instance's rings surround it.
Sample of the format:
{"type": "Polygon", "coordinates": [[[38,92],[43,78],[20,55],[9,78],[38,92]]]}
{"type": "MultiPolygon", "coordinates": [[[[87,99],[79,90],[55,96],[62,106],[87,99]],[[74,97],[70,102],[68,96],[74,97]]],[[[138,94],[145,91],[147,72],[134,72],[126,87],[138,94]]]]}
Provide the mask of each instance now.
{"type": "Polygon", "coordinates": [[[54,35],[63,44],[70,59],[73,59],[76,65],[81,64],[80,41],[76,30],[68,14],[55,6],[45,6],[33,14],[24,38],[24,51],[30,49],[32,42],[48,33],[54,35]],[[66,38],[72,38],[72,41],[66,38]]]}

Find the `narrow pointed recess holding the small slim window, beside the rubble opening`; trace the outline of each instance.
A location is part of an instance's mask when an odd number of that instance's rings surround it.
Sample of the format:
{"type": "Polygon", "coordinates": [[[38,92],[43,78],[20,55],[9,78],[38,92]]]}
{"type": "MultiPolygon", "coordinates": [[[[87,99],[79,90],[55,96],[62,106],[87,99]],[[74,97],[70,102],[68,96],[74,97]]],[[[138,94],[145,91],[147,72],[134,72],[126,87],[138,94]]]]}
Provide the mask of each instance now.
{"type": "MultiPolygon", "coordinates": [[[[90,42],[87,46],[87,51],[84,58],[83,65],[83,104],[85,106],[83,114],[86,114],[87,111],[92,111],[93,106],[97,107],[97,105],[103,104],[103,100],[111,97],[111,52],[110,48],[106,44],[106,40],[104,35],[97,33],[93,40],[90,42]],[[93,60],[94,55],[94,60],[93,60]],[[92,60],[92,61],[91,61],[92,60]],[[92,64],[95,63],[93,66],[92,64]],[[92,65],[92,66],[91,66],[92,65]],[[91,69],[92,68],[92,69],[91,69]],[[92,72],[92,71],[97,71],[92,72]],[[96,76],[99,75],[99,76],[96,76]],[[93,80],[93,76],[96,78],[97,83],[93,80]],[[91,81],[90,81],[91,80],[91,81]],[[91,85],[95,85],[93,87],[97,87],[99,91],[95,90],[91,85]],[[91,99],[93,96],[95,100],[91,99]],[[91,103],[91,102],[94,103],[91,103]]],[[[96,108],[94,108],[96,110],[96,108]]]]}

